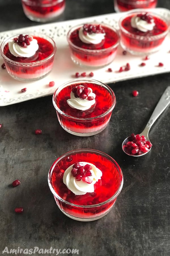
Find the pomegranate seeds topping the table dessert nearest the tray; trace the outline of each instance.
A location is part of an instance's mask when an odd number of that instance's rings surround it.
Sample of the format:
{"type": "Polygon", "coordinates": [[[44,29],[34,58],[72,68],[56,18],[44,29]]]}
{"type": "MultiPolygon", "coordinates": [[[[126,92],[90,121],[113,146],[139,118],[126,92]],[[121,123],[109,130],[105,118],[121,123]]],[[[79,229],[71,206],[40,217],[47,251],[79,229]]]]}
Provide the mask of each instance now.
{"type": "Polygon", "coordinates": [[[88,96],[91,92],[90,88],[86,86],[86,83],[84,84],[85,86],[76,86],[72,88],[72,92],[74,93],[74,96],[76,98],[80,98],[82,100],[94,100],[93,96],[88,96]]]}

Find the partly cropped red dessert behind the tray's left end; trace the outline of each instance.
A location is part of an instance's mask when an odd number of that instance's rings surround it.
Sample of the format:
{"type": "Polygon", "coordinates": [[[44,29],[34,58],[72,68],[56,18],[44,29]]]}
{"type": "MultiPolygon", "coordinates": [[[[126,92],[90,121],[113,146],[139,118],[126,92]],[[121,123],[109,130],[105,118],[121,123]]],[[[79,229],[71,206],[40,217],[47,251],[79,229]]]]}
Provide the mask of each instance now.
{"type": "Polygon", "coordinates": [[[22,0],[27,18],[47,22],[57,18],[65,9],[65,0],[22,0]]]}

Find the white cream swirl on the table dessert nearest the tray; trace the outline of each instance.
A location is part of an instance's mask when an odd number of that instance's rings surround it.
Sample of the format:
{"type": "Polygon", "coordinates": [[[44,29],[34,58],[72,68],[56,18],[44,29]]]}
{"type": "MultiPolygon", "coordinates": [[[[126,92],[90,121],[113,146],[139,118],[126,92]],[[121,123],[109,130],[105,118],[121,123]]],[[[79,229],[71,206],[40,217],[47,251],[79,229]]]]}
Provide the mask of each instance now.
{"type": "MultiPolygon", "coordinates": [[[[83,87],[84,86],[82,86],[82,88],[83,87]]],[[[90,93],[88,93],[88,96],[86,96],[86,98],[81,98],[81,96],[77,97],[75,96],[75,93],[71,92],[70,99],[67,100],[68,105],[71,108],[76,108],[78,110],[88,110],[89,108],[91,108],[91,106],[95,104],[95,93],[92,91],[90,87],[88,88],[90,90],[90,93]],[[93,99],[88,100],[89,97],[92,97],[93,99]]]]}

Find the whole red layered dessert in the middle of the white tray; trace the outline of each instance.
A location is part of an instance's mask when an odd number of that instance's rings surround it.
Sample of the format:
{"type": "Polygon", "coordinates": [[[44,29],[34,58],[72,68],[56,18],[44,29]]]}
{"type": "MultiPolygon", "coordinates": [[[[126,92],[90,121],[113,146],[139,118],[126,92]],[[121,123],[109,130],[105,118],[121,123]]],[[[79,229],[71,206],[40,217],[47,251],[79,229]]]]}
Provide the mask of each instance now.
{"type": "Polygon", "coordinates": [[[117,52],[119,35],[107,24],[84,24],[71,28],[67,34],[74,63],[103,67],[111,63],[117,52]]]}

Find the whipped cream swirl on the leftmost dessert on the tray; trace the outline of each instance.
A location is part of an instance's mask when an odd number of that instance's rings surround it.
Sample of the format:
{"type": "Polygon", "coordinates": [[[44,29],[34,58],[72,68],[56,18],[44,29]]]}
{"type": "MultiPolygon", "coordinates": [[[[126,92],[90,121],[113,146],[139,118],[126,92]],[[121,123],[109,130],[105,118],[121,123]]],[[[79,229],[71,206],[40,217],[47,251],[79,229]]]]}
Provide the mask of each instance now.
{"type": "MultiPolygon", "coordinates": [[[[30,36],[30,38],[32,38],[30,36]]],[[[22,47],[17,44],[17,42],[14,42],[14,40],[11,40],[8,42],[9,51],[12,53],[15,57],[31,57],[35,54],[35,52],[38,50],[39,45],[36,39],[33,39],[30,41],[30,45],[27,45],[27,47],[22,47]]]]}

